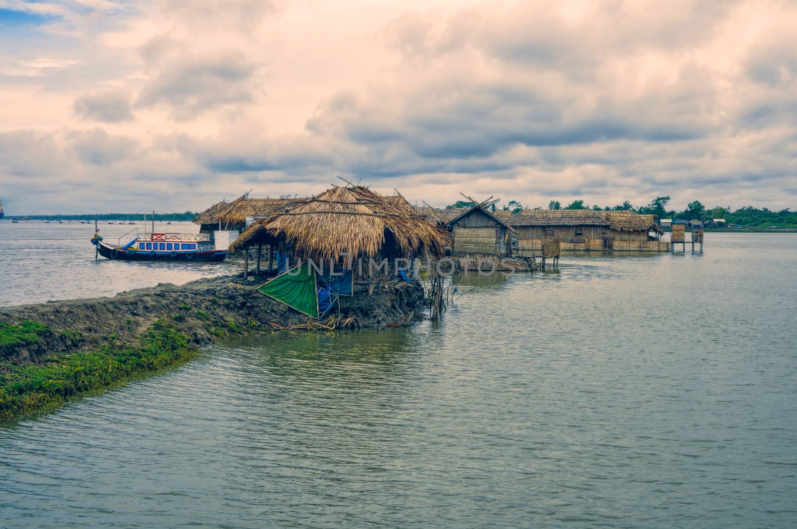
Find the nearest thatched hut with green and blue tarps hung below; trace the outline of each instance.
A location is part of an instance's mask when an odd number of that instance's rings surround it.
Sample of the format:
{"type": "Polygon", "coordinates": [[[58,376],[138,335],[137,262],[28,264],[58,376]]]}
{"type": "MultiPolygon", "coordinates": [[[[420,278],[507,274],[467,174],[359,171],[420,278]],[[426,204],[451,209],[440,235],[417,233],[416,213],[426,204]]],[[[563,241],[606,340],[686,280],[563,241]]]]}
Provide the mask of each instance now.
{"type": "Polygon", "coordinates": [[[355,295],[355,280],[371,289],[394,280],[408,284],[402,268],[414,257],[442,257],[443,243],[403,198],[349,184],[255,221],[230,250],[244,251],[248,276],[249,249],[257,247],[259,273],[268,247],[269,274],[276,257],[278,275],[258,291],[320,318],[336,302],[340,309],[340,296],[355,295]]]}

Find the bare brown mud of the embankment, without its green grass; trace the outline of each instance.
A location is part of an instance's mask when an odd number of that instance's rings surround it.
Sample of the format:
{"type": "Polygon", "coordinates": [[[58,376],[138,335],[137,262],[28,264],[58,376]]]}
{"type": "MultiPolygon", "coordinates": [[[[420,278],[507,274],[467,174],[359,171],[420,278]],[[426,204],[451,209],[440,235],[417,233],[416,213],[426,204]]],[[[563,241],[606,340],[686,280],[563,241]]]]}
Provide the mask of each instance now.
{"type": "MultiPolygon", "coordinates": [[[[256,292],[262,282],[226,276],[181,286],[159,284],[113,297],[0,308],[0,323],[32,321],[47,327],[29,343],[0,343],[0,361],[36,364],[50,355],[96,349],[109,339],[135,343],[157,319],[167,319],[196,345],[308,322],[308,316],[256,292]]],[[[358,284],[355,296],[341,296],[339,321],[372,328],[406,325],[422,319],[423,307],[420,285],[358,284]]],[[[337,319],[337,308],[331,314],[337,319]]]]}

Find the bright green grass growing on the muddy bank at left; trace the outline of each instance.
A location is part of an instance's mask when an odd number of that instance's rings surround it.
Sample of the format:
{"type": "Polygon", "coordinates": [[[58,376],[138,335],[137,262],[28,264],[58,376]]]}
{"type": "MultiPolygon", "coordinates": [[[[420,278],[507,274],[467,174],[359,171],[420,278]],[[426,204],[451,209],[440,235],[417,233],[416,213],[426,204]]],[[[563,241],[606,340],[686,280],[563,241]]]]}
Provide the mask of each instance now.
{"type": "MultiPolygon", "coordinates": [[[[2,323],[0,343],[33,343],[37,333],[48,330],[41,323],[2,323]]],[[[187,335],[159,319],[135,346],[117,344],[110,337],[96,351],[54,355],[38,365],[0,362],[0,421],[56,408],[69,398],[179,365],[196,354],[187,335]]]]}

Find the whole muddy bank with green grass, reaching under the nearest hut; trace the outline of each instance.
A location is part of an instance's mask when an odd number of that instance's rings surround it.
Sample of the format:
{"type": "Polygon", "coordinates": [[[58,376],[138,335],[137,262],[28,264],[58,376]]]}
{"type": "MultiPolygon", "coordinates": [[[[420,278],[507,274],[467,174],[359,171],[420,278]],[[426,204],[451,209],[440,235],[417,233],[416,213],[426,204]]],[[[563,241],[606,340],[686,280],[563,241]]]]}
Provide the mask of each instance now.
{"type": "Polygon", "coordinates": [[[422,319],[423,288],[355,284],[318,322],[227,276],[113,297],[0,308],[0,421],[41,413],[194,358],[228,335],[394,327],[422,319]]]}

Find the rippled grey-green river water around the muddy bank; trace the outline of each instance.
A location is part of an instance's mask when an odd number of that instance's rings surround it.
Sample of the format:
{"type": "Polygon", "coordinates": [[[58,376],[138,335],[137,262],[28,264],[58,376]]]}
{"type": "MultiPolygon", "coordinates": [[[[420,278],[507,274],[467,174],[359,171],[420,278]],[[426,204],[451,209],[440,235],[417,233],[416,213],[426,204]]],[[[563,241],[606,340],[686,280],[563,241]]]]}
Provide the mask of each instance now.
{"type": "MultiPolygon", "coordinates": [[[[57,292],[121,264],[81,252],[57,292]]],[[[231,340],[0,426],[0,525],[795,527],[795,263],[709,233],[470,276],[440,323],[231,340]]]]}

